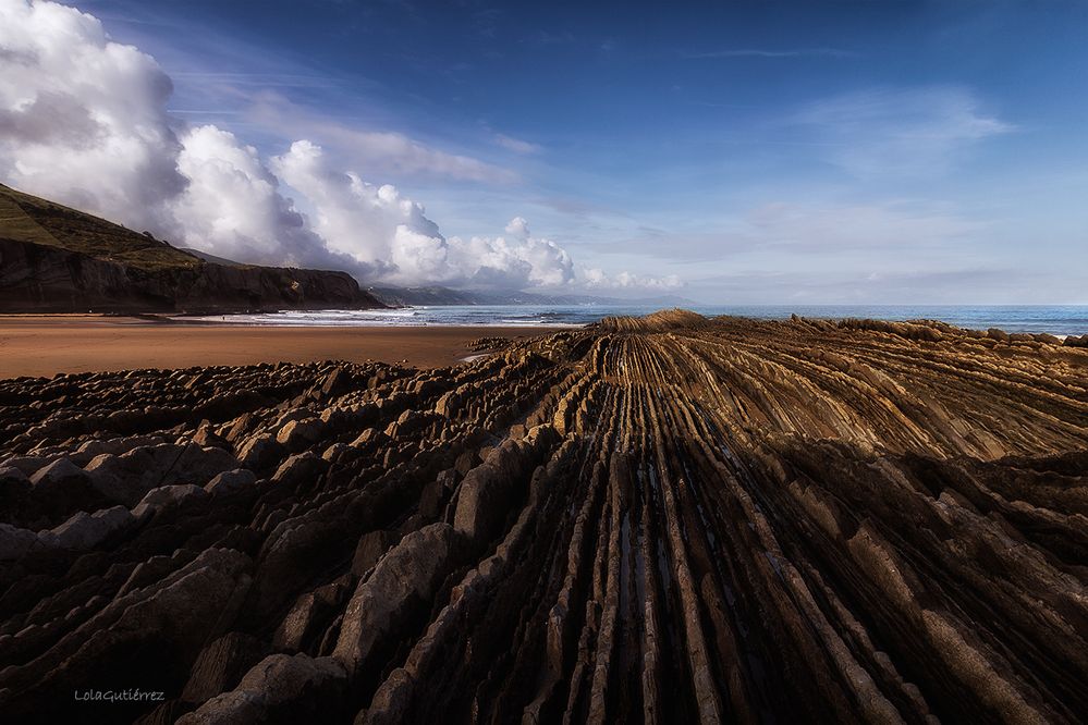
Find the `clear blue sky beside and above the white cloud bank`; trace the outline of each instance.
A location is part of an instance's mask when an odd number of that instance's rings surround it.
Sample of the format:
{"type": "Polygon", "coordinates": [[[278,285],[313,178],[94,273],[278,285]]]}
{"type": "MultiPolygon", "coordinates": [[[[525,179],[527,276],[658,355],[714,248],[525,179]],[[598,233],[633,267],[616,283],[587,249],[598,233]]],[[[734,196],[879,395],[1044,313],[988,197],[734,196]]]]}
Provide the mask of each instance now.
{"type": "Polygon", "coordinates": [[[171,123],[307,139],[443,238],[521,217],[569,286],[1088,303],[1088,3],[77,7],[155,58],[171,123]]]}

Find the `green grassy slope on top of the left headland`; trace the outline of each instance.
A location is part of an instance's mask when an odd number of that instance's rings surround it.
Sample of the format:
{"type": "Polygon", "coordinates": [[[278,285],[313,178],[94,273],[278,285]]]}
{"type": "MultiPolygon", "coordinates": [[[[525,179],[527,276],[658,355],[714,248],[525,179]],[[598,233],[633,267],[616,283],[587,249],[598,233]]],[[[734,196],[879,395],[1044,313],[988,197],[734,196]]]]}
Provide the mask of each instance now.
{"type": "Polygon", "coordinates": [[[58,247],[147,271],[205,263],[149,234],[138,234],[3,184],[0,184],[0,238],[58,247]]]}

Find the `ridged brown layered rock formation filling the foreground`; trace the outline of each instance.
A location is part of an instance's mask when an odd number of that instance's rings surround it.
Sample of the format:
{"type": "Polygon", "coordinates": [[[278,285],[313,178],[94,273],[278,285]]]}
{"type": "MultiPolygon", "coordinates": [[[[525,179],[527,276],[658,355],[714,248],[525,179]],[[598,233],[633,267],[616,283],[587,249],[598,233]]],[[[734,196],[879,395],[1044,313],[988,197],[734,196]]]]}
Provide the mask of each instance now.
{"type": "Polygon", "coordinates": [[[1076,722],[1088,351],[997,336],[663,314],[0,382],[0,712],[1076,722]],[[162,701],[72,699],[123,688],[162,701]]]}

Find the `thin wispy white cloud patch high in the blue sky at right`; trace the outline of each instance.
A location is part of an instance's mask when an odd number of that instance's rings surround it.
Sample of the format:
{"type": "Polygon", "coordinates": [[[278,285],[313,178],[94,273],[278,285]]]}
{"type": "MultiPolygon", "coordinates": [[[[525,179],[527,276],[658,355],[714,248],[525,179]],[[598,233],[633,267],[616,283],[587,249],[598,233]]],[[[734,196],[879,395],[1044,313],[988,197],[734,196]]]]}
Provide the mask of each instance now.
{"type": "Polygon", "coordinates": [[[809,126],[832,160],[861,176],[943,171],[974,143],[1015,130],[958,87],[873,89],[812,103],[794,122],[809,126]]]}

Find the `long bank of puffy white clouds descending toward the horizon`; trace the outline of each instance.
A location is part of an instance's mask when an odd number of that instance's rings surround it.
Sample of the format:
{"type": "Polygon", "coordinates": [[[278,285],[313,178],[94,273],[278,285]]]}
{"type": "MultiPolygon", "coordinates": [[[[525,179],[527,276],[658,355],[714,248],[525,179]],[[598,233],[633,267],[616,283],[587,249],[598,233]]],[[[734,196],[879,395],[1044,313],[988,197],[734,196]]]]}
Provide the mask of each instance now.
{"type": "MultiPolygon", "coordinates": [[[[627,272],[579,273],[565,249],[533,235],[519,217],[503,235],[447,238],[423,205],[341,168],[311,140],[265,158],[228,131],[186,125],[167,111],[172,90],[154,58],[110,40],[93,15],[52,2],[0,0],[0,179],[23,191],[217,256],[344,269],[366,283],[679,284],[627,272]]],[[[398,133],[329,132],[346,134],[366,151],[364,160],[384,163],[393,156],[409,171],[511,181],[502,170],[398,133]]],[[[521,144],[514,150],[533,150],[521,144]]]]}

